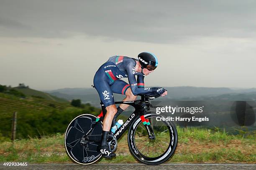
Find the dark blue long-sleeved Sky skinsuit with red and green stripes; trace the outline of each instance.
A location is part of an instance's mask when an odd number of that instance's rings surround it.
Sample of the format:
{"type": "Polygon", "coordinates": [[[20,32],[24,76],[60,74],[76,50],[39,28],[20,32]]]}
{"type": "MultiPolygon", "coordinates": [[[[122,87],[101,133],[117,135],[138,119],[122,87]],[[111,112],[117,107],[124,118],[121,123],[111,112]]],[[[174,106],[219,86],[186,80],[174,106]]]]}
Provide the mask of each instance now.
{"type": "Polygon", "coordinates": [[[114,105],[113,92],[125,95],[126,90],[131,87],[133,95],[156,94],[160,88],[144,88],[144,75],[135,71],[135,60],[130,57],[115,55],[101,65],[95,73],[93,84],[105,107],[114,105]],[[137,75],[137,80],[135,75],[137,75]],[[129,84],[120,80],[126,77],[128,77],[129,84]]]}

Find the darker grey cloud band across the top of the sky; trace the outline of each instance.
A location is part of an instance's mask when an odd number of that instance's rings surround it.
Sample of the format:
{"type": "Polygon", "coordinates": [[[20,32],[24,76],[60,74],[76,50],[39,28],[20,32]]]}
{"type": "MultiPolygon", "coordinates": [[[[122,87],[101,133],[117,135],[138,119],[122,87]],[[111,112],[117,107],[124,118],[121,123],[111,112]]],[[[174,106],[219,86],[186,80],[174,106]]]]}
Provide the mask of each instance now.
{"type": "MultiPolygon", "coordinates": [[[[76,35],[154,43],[199,36],[256,37],[256,1],[3,1],[0,36],[76,35]],[[31,26],[28,26],[31,25],[31,26]],[[30,28],[30,29],[28,29],[30,28]],[[2,32],[2,33],[1,33],[2,32]]],[[[1,20],[0,20],[1,22],[1,20]]]]}

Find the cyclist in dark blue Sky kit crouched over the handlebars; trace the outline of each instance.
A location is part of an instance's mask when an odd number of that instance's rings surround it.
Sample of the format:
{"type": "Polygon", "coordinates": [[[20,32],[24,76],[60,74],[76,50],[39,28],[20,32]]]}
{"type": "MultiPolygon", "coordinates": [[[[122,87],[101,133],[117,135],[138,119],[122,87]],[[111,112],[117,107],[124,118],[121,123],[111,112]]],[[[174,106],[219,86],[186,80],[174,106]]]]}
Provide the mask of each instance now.
{"type": "Polygon", "coordinates": [[[136,100],[138,94],[167,95],[167,90],[163,87],[144,88],[144,76],[154,72],[157,65],[158,60],[151,52],[141,52],[138,59],[115,55],[101,65],[95,73],[93,84],[107,110],[103,120],[102,143],[98,148],[103,156],[115,156],[107,145],[108,133],[111,125],[115,125],[117,116],[129,106],[120,104],[116,108],[113,93],[126,95],[123,101],[136,100]],[[137,80],[135,75],[137,75],[137,80]],[[126,77],[128,77],[129,84],[120,80],[126,77]]]}

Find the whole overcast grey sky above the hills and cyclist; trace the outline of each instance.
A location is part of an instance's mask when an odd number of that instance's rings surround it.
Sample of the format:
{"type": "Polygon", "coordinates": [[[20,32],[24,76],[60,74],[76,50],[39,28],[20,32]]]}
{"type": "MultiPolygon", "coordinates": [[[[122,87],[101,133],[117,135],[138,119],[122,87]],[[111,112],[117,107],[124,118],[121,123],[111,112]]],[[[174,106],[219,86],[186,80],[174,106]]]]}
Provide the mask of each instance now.
{"type": "Polygon", "coordinates": [[[90,87],[143,51],[159,59],[146,86],[256,87],[256,1],[0,0],[2,85],[90,87]]]}

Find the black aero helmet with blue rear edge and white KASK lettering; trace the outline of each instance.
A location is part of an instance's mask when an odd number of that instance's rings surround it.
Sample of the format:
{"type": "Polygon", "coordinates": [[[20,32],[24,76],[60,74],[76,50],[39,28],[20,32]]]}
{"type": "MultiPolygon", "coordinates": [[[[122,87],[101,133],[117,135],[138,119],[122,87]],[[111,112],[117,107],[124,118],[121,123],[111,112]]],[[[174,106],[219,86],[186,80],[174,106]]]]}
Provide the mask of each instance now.
{"type": "Polygon", "coordinates": [[[141,52],[138,55],[139,62],[143,68],[148,69],[149,71],[155,70],[158,65],[158,60],[156,55],[151,52],[141,52]]]}

